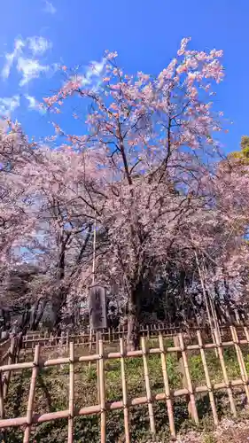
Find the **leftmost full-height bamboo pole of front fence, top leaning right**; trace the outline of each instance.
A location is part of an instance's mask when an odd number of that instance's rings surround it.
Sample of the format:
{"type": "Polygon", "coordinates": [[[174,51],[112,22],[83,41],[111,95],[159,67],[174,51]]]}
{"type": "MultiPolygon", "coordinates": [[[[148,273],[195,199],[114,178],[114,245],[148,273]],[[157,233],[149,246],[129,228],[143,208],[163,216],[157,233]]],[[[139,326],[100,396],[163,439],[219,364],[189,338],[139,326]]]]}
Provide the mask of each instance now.
{"type": "Polygon", "coordinates": [[[33,406],[34,406],[34,400],[35,400],[35,382],[36,382],[36,377],[37,377],[37,374],[39,371],[39,355],[40,355],[40,345],[36,345],[35,346],[34,366],[32,369],[32,376],[31,376],[30,388],[29,388],[29,394],[28,394],[28,400],[27,400],[27,427],[26,427],[26,430],[24,431],[23,443],[28,443],[30,431],[31,431],[33,406]]]}

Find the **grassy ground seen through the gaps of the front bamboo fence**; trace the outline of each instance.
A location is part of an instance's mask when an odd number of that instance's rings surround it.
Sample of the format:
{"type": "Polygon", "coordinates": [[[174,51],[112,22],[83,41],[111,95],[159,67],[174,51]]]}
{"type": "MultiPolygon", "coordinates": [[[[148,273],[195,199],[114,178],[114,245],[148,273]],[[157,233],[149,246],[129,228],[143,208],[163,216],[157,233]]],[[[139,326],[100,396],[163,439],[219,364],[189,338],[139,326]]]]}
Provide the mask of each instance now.
{"type": "MultiPolygon", "coordinates": [[[[157,346],[156,342],[150,343],[150,346],[157,346]]],[[[167,340],[165,346],[173,346],[173,343],[167,340]]],[[[80,354],[81,349],[78,350],[80,354]]],[[[110,351],[110,350],[108,350],[110,351]]],[[[113,349],[112,349],[113,351],[113,349]]],[[[245,365],[249,374],[249,354],[248,348],[243,349],[245,355],[245,365]]],[[[224,359],[228,369],[230,380],[240,378],[239,366],[234,348],[224,350],[224,359]]],[[[209,369],[212,383],[222,382],[222,369],[219,359],[215,356],[213,350],[206,351],[206,361],[209,369]]],[[[164,392],[163,378],[160,355],[151,355],[148,357],[150,384],[152,393],[164,392]]],[[[204,369],[200,355],[192,353],[189,355],[189,366],[191,379],[194,386],[206,385],[204,369]]],[[[128,386],[128,398],[142,397],[146,395],[144,385],[144,365],[142,358],[126,359],[125,361],[126,379],[128,386]]],[[[35,390],[35,413],[43,414],[60,409],[68,408],[68,372],[67,365],[42,369],[36,380],[35,390]]],[[[176,354],[167,355],[167,373],[171,389],[182,388],[181,374],[178,370],[176,354]]],[[[8,401],[5,405],[6,418],[14,416],[26,416],[27,397],[30,383],[30,370],[22,373],[12,374],[12,381],[9,388],[8,401]]],[[[119,360],[105,361],[105,388],[106,400],[122,400],[121,390],[121,362],[119,360]]],[[[243,419],[245,408],[242,402],[245,400],[243,387],[236,389],[235,400],[237,404],[238,416],[243,419]]],[[[208,395],[196,396],[198,416],[200,425],[198,431],[202,433],[204,443],[214,443],[213,429],[214,420],[211,415],[208,395]],[[206,438],[206,440],[204,439],[206,438]]],[[[230,405],[227,393],[225,391],[215,392],[216,407],[219,417],[230,417],[230,405]]],[[[75,407],[82,408],[97,404],[97,373],[94,364],[89,369],[89,364],[78,364],[75,368],[75,407]]],[[[165,401],[153,403],[153,412],[155,416],[158,441],[169,441],[167,408],[165,401]]],[[[195,426],[191,422],[185,398],[175,399],[174,401],[175,427],[180,433],[194,430],[195,426]]],[[[78,442],[99,442],[99,416],[76,417],[74,419],[74,441],[78,442]]],[[[137,406],[130,409],[130,429],[132,442],[152,441],[150,435],[148,406],[137,406]]],[[[113,411],[107,413],[107,442],[124,441],[124,423],[122,411],[113,411]]],[[[249,433],[248,433],[249,435],[249,433]]],[[[23,439],[23,431],[14,429],[7,431],[8,443],[19,443],[23,439]]],[[[67,441],[67,420],[57,420],[55,422],[33,426],[33,442],[56,443],[67,441]]],[[[187,441],[187,440],[186,440],[187,441]]],[[[191,441],[191,440],[190,440],[191,441]]],[[[193,440],[194,441],[194,440],[193,440]]],[[[198,441],[198,440],[196,440],[198,441]]],[[[201,441],[201,440],[199,440],[201,441]]],[[[222,440],[221,440],[222,441],[222,440]]],[[[238,441],[238,440],[237,440],[238,441]]]]}

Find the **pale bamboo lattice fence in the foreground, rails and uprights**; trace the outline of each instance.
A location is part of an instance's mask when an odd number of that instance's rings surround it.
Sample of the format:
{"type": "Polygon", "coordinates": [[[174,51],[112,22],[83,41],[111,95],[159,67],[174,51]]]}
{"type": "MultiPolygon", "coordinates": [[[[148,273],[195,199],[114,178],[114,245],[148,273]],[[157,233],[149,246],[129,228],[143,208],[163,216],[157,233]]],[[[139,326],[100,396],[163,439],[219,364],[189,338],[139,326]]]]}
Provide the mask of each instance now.
{"type": "MultiPolygon", "coordinates": [[[[9,427],[22,427],[24,426],[24,437],[23,442],[27,443],[30,440],[32,425],[42,424],[44,422],[51,422],[53,420],[58,420],[61,418],[66,418],[68,420],[68,443],[74,442],[74,417],[76,416],[89,416],[89,415],[99,415],[100,416],[100,441],[105,443],[106,440],[106,416],[108,411],[121,410],[124,416],[124,428],[125,428],[125,441],[130,442],[130,423],[129,423],[129,408],[136,407],[137,405],[147,405],[148,417],[150,423],[150,429],[152,436],[154,437],[157,433],[156,420],[154,416],[153,404],[156,401],[165,401],[165,411],[168,418],[168,426],[171,436],[175,438],[175,417],[174,417],[174,400],[178,397],[189,398],[191,405],[191,416],[196,424],[198,424],[198,408],[196,403],[196,396],[198,393],[206,393],[209,396],[212,414],[214,417],[214,424],[218,424],[217,410],[215,406],[214,394],[218,390],[226,390],[228,398],[230,400],[230,409],[233,416],[237,416],[237,409],[234,400],[234,388],[240,386],[244,388],[245,395],[249,400],[249,390],[248,390],[248,373],[246,371],[246,365],[244,360],[244,355],[241,352],[241,346],[249,345],[249,331],[245,326],[243,328],[243,337],[241,336],[241,330],[238,330],[235,326],[230,326],[230,337],[229,341],[222,341],[220,336],[216,334],[214,343],[207,343],[203,334],[200,330],[195,332],[195,338],[197,344],[188,344],[185,341],[183,333],[177,334],[175,343],[179,346],[165,346],[163,341],[162,333],[158,336],[159,347],[149,348],[146,346],[146,337],[141,338],[141,348],[136,351],[128,351],[125,349],[124,339],[120,338],[119,351],[107,353],[105,352],[105,342],[103,339],[98,341],[97,354],[91,355],[80,355],[76,356],[74,353],[74,342],[69,343],[69,353],[66,357],[61,357],[57,359],[49,359],[43,361],[40,358],[41,346],[40,344],[35,344],[35,356],[33,361],[15,361],[15,348],[17,348],[16,342],[12,339],[12,350],[10,350],[9,357],[12,356],[12,361],[10,358],[6,361],[2,361],[0,366],[0,429],[4,432],[6,428],[9,427]],[[241,373],[241,378],[234,380],[229,380],[223,350],[225,348],[234,348],[236,351],[237,362],[241,373]],[[217,350],[218,359],[222,368],[222,383],[212,384],[209,375],[209,369],[206,364],[206,352],[208,350],[217,350]],[[201,361],[205,373],[206,385],[194,386],[191,380],[191,372],[189,369],[188,354],[191,352],[200,354],[201,361]],[[169,385],[169,379],[167,374],[167,355],[178,353],[182,356],[182,367],[184,370],[183,374],[183,387],[181,389],[171,389],[169,385]],[[161,370],[163,377],[164,392],[153,394],[150,385],[150,374],[148,370],[148,357],[150,355],[159,355],[161,360],[161,370]],[[144,366],[144,385],[146,395],[143,397],[136,397],[133,399],[128,399],[127,391],[127,380],[125,373],[125,361],[127,359],[138,359],[141,358],[144,366]],[[107,401],[105,395],[105,361],[110,360],[120,360],[121,368],[121,389],[122,389],[122,400],[119,401],[107,401]],[[83,362],[95,361],[98,366],[98,404],[93,406],[86,406],[83,408],[75,408],[74,405],[74,370],[75,365],[83,362]],[[45,413],[45,414],[35,414],[34,412],[34,400],[35,400],[35,383],[39,373],[42,368],[49,368],[58,366],[61,364],[67,364],[69,366],[69,381],[68,381],[68,408],[66,410],[58,410],[56,412],[45,413]],[[30,380],[29,395],[27,401],[27,415],[19,416],[13,418],[4,417],[4,400],[6,398],[6,392],[4,393],[3,378],[14,371],[21,371],[24,369],[32,369],[32,375],[30,380]]],[[[9,377],[10,381],[10,377],[9,377]]]]}

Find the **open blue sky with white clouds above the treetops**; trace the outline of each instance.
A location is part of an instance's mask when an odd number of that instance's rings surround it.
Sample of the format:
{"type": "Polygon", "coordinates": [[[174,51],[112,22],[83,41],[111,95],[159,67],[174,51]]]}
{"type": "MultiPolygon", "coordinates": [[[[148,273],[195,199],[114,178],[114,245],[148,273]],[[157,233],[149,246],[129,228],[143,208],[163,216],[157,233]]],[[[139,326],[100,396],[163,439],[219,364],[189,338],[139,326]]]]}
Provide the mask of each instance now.
{"type": "MultiPolygon", "coordinates": [[[[58,65],[101,62],[118,51],[129,74],[158,74],[191,36],[191,48],[222,49],[226,77],[216,102],[234,124],[222,136],[227,151],[249,134],[248,0],[8,0],[1,4],[0,112],[9,110],[28,136],[51,134],[35,100],[63,82],[58,65]],[[7,55],[8,54],[8,55],[7,55]],[[6,58],[7,55],[7,58],[6,58]]],[[[7,111],[6,111],[7,112],[7,111]]]]}

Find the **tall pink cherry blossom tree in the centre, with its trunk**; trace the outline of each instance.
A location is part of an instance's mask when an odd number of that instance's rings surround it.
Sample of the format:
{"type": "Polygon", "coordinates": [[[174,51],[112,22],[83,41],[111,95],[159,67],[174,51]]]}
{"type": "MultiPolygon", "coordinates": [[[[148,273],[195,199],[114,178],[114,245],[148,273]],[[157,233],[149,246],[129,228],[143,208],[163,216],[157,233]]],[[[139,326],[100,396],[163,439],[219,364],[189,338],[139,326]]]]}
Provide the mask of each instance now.
{"type": "Polygon", "coordinates": [[[109,240],[97,260],[97,278],[105,279],[110,268],[125,288],[131,347],[137,344],[144,281],[169,260],[181,227],[205,205],[201,177],[217,152],[214,133],[221,125],[210,96],[223,78],[222,51],[189,51],[189,41],[183,39],[176,58],[156,77],[124,74],[117,54],[106,52],[98,88],[75,75],[44,98],[58,119],[69,97],[90,104],[87,135],[68,135],[54,124],[72,152],[82,155],[88,216],[94,208],[109,240]]]}

